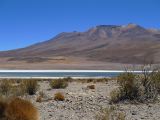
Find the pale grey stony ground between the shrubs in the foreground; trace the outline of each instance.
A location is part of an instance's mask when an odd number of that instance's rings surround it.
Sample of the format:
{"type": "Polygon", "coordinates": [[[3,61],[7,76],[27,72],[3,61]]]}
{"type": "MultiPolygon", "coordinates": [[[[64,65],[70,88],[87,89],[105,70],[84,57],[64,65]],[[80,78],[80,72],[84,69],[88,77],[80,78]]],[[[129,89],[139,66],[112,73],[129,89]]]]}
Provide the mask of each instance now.
{"type": "MultiPolygon", "coordinates": [[[[45,93],[42,102],[31,99],[40,112],[40,120],[96,120],[101,110],[112,106],[116,112],[122,112],[126,120],[159,120],[160,103],[129,103],[109,104],[110,92],[116,89],[116,81],[102,83],[71,82],[65,89],[51,89],[48,81],[39,82],[40,90],[45,93]],[[95,85],[88,89],[87,85],[95,85]],[[62,92],[65,101],[55,101],[54,94],[62,92]]],[[[38,94],[38,93],[37,93],[38,94]]]]}

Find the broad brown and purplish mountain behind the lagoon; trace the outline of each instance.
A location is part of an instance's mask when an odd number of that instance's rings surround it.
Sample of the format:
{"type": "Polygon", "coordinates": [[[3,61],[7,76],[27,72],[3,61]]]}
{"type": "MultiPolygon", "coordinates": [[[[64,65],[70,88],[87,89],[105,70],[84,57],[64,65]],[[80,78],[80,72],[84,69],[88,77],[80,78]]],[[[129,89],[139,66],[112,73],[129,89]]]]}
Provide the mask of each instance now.
{"type": "Polygon", "coordinates": [[[160,31],[136,24],[99,25],[85,32],[63,32],[26,48],[3,51],[0,58],[41,64],[66,58],[88,63],[160,63],[160,31]]]}

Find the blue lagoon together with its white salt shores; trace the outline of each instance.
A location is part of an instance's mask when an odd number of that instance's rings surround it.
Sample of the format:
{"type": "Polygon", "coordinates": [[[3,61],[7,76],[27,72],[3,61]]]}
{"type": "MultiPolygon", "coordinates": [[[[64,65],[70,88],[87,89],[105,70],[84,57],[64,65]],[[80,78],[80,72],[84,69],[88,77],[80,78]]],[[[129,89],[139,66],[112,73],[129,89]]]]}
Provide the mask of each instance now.
{"type": "MultiPolygon", "coordinates": [[[[0,70],[0,78],[105,78],[116,77],[120,70],[0,70]]],[[[141,71],[132,71],[141,73],[141,71]]]]}

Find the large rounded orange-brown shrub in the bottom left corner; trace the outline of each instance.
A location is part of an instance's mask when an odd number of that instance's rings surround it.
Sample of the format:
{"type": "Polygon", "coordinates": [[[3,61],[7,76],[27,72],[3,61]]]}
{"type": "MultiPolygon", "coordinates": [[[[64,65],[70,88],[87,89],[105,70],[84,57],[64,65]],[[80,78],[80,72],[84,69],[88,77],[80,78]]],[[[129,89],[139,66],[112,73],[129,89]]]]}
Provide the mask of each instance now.
{"type": "Polygon", "coordinates": [[[0,100],[0,120],[39,120],[38,111],[32,103],[20,98],[0,100]]]}

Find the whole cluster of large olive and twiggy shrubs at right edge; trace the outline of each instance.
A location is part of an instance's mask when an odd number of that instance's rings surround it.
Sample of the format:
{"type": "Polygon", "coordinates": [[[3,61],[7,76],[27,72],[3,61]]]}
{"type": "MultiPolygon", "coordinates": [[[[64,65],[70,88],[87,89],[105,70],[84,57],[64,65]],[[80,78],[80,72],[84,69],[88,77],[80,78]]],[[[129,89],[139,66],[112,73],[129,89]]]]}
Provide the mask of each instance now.
{"type": "Polygon", "coordinates": [[[126,72],[120,74],[117,80],[120,87],[110,93],[113,103],[123,100],[154,101],[160,93],[159,71],[143,71],[139,75],[126,72]]]}

